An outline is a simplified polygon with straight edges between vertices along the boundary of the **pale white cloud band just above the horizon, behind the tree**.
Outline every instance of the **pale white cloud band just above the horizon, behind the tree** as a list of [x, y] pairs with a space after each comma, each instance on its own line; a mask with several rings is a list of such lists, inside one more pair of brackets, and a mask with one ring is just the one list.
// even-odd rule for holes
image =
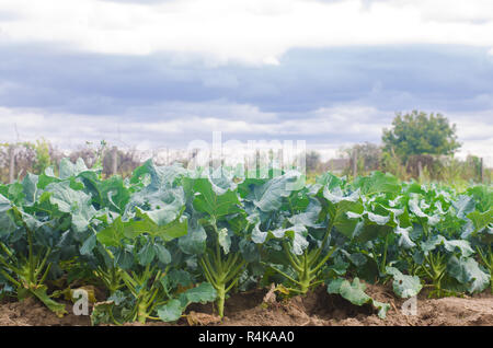
[[[221, 131], [223, 139], [239, 137], [241, 141], [306, 140], [309, 149], [317, 149], [328, 159], [339, 155], [342, 147], [355, 142], [379, 143], [382, 128], [389, 126], [393, 117], [391, 113], [358, 105], [320, 108], [299, 118], [286, 118], [263, 113], [255, 106], [221, 101], [175, 103], [167, 108], [177, 116], [139, 121], [137, 117], [48, 114], [0, 106], [0, 128], [4, 130], [3, 141], [16, 140], [16, 127], [21, 141], [44, 137], [60, 148], [78, 148], [85, 141], [104, 139], [140, 150], [186, 149], [190, 141], [202, 139], [210, 142], [213, 131]], [[459, 141], [462, 142], [459, 158], [479, 155], [486, 165], [493, 166], [493, 125], [488, 121], [493, 109], [446, 115], [457, 124]]]

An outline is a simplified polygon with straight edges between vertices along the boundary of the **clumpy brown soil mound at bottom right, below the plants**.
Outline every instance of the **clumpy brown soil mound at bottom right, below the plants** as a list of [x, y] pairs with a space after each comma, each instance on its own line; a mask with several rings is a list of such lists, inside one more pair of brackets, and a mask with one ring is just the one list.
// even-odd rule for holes
[[[233, 294], [226, 306], [226, 317], [219, 325], [231, 326], [428, 326], [493, 325], [493, 295], [488, 292], [467, 298], [427, 299], [423, 292], [415, 301], [415, 313], [406, 315], [406, 300], [395, 298], [391, 287], [367, 285], [366, 293], [391, 304], [387, 318], [378, 317], [370, 305], [357, 306], [340, 295], [329, 294], [320, 287], [305, 297], [270, 304], [262, 300], [266, 290], [248, 295]], [[409, 303], [409, 302], [408, 302]], [[211, 306], [199, 309], [213, 314]], [[408, 305], [404, 305], [404, 310]], [[410, 310], [408, 309], [408, 312]], [[415, 314], [415, 315], [412, 315]], [[181, 322], [180, 324], [185, 324]]]

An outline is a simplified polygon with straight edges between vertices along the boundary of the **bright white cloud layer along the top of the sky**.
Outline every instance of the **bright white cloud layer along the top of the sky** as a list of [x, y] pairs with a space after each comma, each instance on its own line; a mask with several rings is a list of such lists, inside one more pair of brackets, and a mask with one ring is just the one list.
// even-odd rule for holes
[[293, 47], [493, 45], [490, 0], [2, 0], [0, 43], [50, 42], [103, 54], [195, 53], [276, 65]]

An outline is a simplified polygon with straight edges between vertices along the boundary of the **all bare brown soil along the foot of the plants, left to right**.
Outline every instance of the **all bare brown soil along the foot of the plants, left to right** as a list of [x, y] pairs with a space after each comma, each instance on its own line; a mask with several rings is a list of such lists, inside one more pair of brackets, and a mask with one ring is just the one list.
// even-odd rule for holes
[[[267, 290], [233, 294], [227, 300], [222, 323], [214, 315], [213, 305], [193, 305], [188, 316], [177, 325], [231, 325], [231, 326], [427, 326], [427, 325], [493, 325], [493, 295], [483, 292], [474, 297], [427, 299], [417, 298], [417, 315], [404, 315], [401, 306], [405, 300], [393, 295], [385, 286], [367, 286], [366, 292], [380, 302], [391, 304], [386, 320], [380, 320], [369, 306], [356, 306], [339, 295], [328, 294], [323, 287], [307, 297], [264, 303]], [[71, 312], [71, 306], [67, 304]], [[0, 303], [0, 325], [90, 325], [88, 316], [73, 314], [58, 318], [34, 299], [22, 302]], [[135, 324], [129, 324], [135, 325]], [[149, 323], [148, 325], [168, 325]]]

